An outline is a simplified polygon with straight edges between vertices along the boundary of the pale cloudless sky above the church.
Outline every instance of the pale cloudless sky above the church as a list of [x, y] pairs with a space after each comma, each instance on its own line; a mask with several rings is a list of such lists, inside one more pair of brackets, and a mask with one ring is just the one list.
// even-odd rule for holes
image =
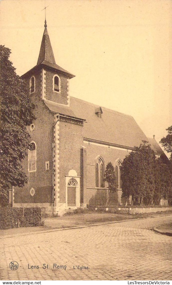
[[[172, 125], [172, 1], [1, 0], [1, 44], [20, 76], [47, 29], [70, 95], [132, 115], [156, 141]], [[168, 154], [168, 156], [170, 156]]]

